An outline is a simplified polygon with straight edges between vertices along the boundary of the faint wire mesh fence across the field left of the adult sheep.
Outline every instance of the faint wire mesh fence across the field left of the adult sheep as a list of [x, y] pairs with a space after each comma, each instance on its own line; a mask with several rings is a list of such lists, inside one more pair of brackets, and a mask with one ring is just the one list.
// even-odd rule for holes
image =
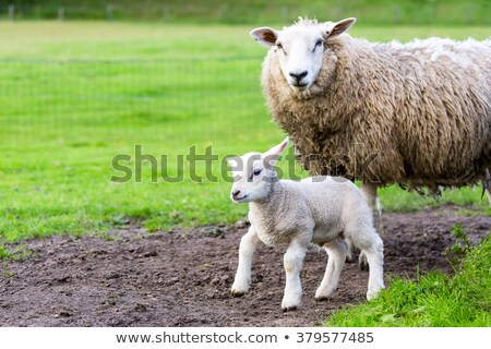
[[[218, 130], [232, 132], [233, 120], [253, 112], [251, 105], [265, 110], [260, 62], [247, 57], [0, 59], [0, 134], [19, 144], [37, 128], [52, 134], [97, 130], [95, 139], [104, 139], [134, 135], [133, 128], [171, 133], [167, 125], [183, 136], [211, 139]], [[195, 125], [196, 118], [207, 127]]]

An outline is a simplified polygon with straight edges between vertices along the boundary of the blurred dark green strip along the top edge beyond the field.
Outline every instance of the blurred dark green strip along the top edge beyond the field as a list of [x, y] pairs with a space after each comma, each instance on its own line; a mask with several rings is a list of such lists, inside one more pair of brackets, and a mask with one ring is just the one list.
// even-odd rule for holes
[[289, 23], [298, 15], [342, 19], [356, 16], [366, 24], [385, 25], [491, 25], [491, 2], [405, 1], [356, 8], [349, 1], [324, 5], [252, 3], [101, 4], [88, 5], [15, 5], [0, 3], [0, 20], [153, 20], [164, 22], [216, 23]]

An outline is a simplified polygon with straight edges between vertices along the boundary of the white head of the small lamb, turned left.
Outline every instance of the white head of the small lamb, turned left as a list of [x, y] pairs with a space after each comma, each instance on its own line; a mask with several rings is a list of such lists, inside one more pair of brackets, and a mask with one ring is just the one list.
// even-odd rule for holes
[[238, 204], [259, 202], [270, 195], [277, 181], [276, 161], [287, 145], [288, 137], [266, 153], [247, 153], [227, 159], [233, 172], [230, 191], [232, 202]]

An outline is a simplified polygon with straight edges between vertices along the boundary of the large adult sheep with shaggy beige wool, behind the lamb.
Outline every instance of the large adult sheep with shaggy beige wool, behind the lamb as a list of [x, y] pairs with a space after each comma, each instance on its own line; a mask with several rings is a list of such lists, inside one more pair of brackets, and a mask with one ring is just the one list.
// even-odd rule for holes
[[[491, 39], [369, 43], [356, 22], [300, 19], [251, 32], [270, 47], [262, 84], [273, 119], [311, 174], [412, 190], [491, 181]], [[491, 201], [491, 196], [490, 196]]]

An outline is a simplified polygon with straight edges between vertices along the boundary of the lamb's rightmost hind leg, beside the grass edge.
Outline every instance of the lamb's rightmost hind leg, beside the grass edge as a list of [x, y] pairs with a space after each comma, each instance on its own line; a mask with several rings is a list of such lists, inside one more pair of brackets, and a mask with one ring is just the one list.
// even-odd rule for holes
[[370, 265], [369, 285], [367, 291], [367, 299], [375, 298], [379, 291], [384, 288], [384, 245], [382, 239], [373, 229], [371, 234], [372, 241], [368, 246], [360, 246], [367, 254], [368, 263]]

